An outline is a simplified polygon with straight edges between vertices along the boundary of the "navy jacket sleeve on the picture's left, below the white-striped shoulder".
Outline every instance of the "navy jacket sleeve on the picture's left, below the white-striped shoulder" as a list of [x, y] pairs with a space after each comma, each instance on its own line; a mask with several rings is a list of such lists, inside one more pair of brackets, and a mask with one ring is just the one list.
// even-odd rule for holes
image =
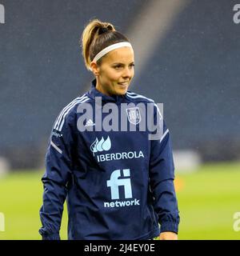
[[71, 120], [67, 116], [62, 130], [56, 130], [54, 127], [58, 128], [57, 118], [46, 151], [46, 171], [42, 176], [43, 204], [40, 209], [42, 227], [39, 230], [43, 240], [60, 239], [62, 210], [72, 166], [74, 135]]

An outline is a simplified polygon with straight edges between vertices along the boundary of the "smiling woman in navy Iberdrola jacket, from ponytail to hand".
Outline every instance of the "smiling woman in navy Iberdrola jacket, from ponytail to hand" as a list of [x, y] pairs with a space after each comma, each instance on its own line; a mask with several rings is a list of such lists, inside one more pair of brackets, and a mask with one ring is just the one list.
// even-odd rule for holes
[[[50, 135], [42, 177], [42, 239], [60, 238], [65, 199], [69, 239], [143, 240], [159, 234], [160, 239], [177, 239], [170, 134], [165, 123], [161, 139], [150, 140], [150, 131], [139, 128], [142, 110], [135, 105], [154, 103], [128, 90], [134, 77], [129, 40], [96, 19], [82, 33], [82, 54], [95, 79], [90, 91], [62, 110]], [[115, 111], [110, 122], [104, 121], [106, 111], [99, 112], [106, 106]], [[120, 111], [122, 106], [126, 111]], [[92, 115], [86, 116], [82, 109], [89, 107]], [[120, 112], [134, 131], [116, 129], [119, 123], [107, 130], [107, 123], [122, 122], [122, 116], [114, 119]], [[154, 119], [159, 114], [154, 104]]]

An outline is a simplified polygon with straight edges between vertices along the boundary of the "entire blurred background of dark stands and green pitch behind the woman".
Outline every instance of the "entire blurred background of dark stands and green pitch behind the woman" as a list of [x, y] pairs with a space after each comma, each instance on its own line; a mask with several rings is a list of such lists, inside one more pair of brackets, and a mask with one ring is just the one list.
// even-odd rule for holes
[[[240, 212], [236, 1], [0, 3], [0, 239], [40, 239], [46, 145], [59, 111], [94, 78], [78, 44], [92, 18], [112, 22], [130, 38], [136, 70], [130, 90], [164, 104], [174, 148], [179, 239], [240, 238], [234, 230], [234, 213]], [[61, 232], [66, 239], [66, 211]]]

